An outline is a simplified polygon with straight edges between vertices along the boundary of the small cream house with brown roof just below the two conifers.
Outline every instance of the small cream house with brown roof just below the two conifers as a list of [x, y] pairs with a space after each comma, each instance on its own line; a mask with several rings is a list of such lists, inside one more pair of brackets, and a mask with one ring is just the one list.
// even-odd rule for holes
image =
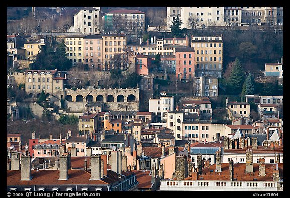
[[[229, 115], [229, 119], [233, 120], [236, 118], [250, 118], [250, 104], [247, 102], [228, 102], [226, 99], [226, 108]], [[247, 120], [246, 120], [247, 122]]]

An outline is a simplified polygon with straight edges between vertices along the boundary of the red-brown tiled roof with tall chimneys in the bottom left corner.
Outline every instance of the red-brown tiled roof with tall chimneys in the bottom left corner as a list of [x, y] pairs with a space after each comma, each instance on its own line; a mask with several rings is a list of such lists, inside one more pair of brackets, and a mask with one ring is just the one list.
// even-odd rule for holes
[[89, 184], [106, 185], [108, 183], [101, 180], [90, 180], [91, 174], [85, 170], [68, 170], [68, 180], [58, 180], [59, 170], [32, 170], [31, 181], [20, 181], [21, 171], [6, 171], [7, 185], [66, 185], [66, 184]]

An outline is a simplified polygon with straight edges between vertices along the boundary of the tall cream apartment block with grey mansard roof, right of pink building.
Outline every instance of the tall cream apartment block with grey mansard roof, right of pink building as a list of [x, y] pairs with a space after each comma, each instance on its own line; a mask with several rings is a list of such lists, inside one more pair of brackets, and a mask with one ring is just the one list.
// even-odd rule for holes
[[223, 37], [192, 36], [191, 47], [195, 50], [195, 76], [222, 77]]

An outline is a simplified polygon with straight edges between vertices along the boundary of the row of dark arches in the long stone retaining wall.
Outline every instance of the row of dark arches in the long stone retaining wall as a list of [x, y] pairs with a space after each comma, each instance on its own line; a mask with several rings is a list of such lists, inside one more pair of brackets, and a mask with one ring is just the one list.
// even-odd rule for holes
[[[86, 97], [82, 96], [81, 94], [77, 95], [75, 100], [73, 99], [73, 96], [66, 95], [65, 99], [70, 102], [136, 102], [136, 97], [133, 94], [128, 95], [127, 98], [124, 97], [124, 95], [120, 94], [114, 98], [113, 95], [108, 95], [107, 97], [104, 97], [103, 95], [97, 95], [97, 97], [94, 99], [94, 96], [87, 95]], [[126, 99], [126, 100], [125, 100]]]

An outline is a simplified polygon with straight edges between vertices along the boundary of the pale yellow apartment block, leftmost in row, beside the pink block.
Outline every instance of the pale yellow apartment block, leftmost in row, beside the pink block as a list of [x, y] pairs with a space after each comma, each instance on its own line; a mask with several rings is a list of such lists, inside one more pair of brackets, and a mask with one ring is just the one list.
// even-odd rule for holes
[[76, 65], [77, 63], [84, 63], [84, 36], [74, 35], [64, 38], [66, 45], [66, 57]]

